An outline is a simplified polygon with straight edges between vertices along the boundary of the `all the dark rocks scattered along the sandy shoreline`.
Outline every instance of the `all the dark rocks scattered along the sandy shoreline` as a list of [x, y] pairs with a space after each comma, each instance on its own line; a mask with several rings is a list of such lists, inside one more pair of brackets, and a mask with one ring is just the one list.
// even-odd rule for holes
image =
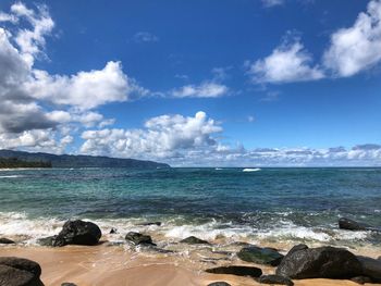
[[[160, 225], [161, 223], [147, 223], [144, 225]], [[349, 231], [380, 229], [366, 224], [359, 224], [348, 219], [339, 221], [340, 228]], [[111, 234], [118, 233], [112, 228]], [[39, 244], [51, 247], [66, 245], [94, 246], [101, 238], [100, 228], [91, 223], [81, 220], [67, 221], [61, 232], [56, 236], [39, 239]], [[156, 244], [149, 235], [130, 232], [125, 240], [134, 246], [152, 246]], [[0, 238], [0, 244], [13, 244], [14, 241]], [[192, 245], [210, 245], [208, 241], [190, 236], [180, 243]], [[381, 259], [355, 256], [346, 249], [335, 247], [308, 248], [306, 245], [294, 246], [286, 256], [281, 254], [274, 248], [261, 248], [257, 246], [244, 246], [237, 253], [242, 261], [275, 266], [275, 274], [263, 275], [262, 270], [248, 265], [228, 265], [207, 269], [207, 273], [232, 274], [249, 276], [261, 284], [294, 285], [292, 279], [305, 278], [332, 278], [352, 279], [353, 282], [381, 283]], [[0, 258], [0, 285], [40, 286], [41, 268], [38, 263], [22, 258]], [[63, 283], [73, 286], [71, 283]], [[214, 282], [209, 286], [229, 286], [225, 282]]]

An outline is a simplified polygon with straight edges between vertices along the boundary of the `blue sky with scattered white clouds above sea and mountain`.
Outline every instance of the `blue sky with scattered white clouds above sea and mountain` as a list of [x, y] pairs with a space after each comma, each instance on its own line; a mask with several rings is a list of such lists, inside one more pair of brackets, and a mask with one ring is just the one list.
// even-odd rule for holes
[[0, 2], [0, 149], [380, 166], [381, 0]]

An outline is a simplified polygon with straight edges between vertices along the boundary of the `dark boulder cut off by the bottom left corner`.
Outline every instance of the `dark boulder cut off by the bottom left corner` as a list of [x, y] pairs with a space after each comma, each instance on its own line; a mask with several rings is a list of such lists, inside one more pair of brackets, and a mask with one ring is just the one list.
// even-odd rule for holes
[[41, 268], [32, 260], [1, 257], [0, 286], [44, 286], [40, 281]]

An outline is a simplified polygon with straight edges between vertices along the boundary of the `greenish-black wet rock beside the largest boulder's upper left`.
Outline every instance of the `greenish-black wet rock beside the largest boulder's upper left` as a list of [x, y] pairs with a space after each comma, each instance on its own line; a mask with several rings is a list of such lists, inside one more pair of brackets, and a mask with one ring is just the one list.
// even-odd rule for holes
[[260, 248], [256, 246], [244, 247], [237, 257], [246, 262], [276, 266], [281, 263], [283, 256], [273, 248]]

